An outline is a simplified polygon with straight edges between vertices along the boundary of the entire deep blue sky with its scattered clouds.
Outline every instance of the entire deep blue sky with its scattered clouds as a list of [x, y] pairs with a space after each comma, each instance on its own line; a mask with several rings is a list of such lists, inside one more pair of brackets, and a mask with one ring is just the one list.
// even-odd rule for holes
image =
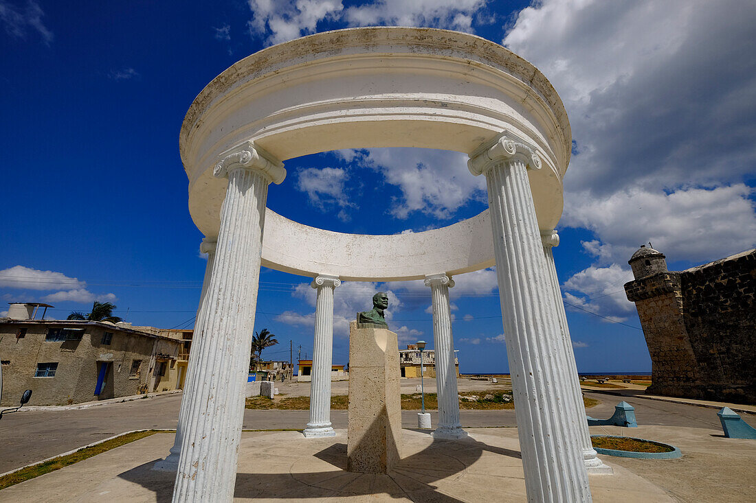
[[[622, 289], [632, 252], [650, 240], [681, 270], [756, 242], [754, 22], [750, 2], [705, 0], [0, 0], [0, 301], [48, 301], [48, 318], [113, 301], [135, 325], [191, 327], [205, 259], [178, 131], [194, 97], [235, 61], [300, 35], [435, 26], [507, 45], [559, 92], [575, 155], [554, 255], [578, 368], [648, 371]], [[341, 232], [441, 227], [485, 208], [464, 160], [406, 149], [291, 159], [268, 205]], [[438, 184], [438, 169], [456, 183]], [[494, 272], [455, 280], [462, 372], [506, 372]], [[295, 359], [300, 345], [311, 357], [308, 282], [262, 271], [256, 330], [281, 343], [263, 356], [288, 359], [291, 340]], [[336, 363], [347, 360], [345, 320], [379, 289], [403, 344], [432, 341], [425, 286], [344, 283]]]

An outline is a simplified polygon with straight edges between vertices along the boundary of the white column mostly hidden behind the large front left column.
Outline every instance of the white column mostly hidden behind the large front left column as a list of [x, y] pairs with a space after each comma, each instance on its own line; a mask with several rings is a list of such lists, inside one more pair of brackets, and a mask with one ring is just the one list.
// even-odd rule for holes
[[[197, 342], [197, 335], [199, 335], [202, 327], [200, 326], [200, 320], [203, 319], [202, 311], [205, 307], [205, 297], [207, 287], [210, 284], [210, 278], [212, 277], [212, 265], [215, 262], [215, 239], [205, 238], [200, 243], [200, 252], [207, 254], [207, 264], [205, 266], [205, 277], [202, 281], [202, 291], [200, 292], [200, 304], [197, 307], [197, 317], [194, 322], [194, 334], [192, 335], [192, 344]], [[167, 458], [157, 461], [153, 465], [153, 470], [159, 471], [175, 471], [178, 468], [178, 457], [181, 454], [181, 442], [184, 439], [184, 429], [186, 428], [187, 415], [191, 404], [187, 397], [191, 396], [191, 374], [195, 372], [197, 368], [197, 360], [199, 354], [194, 351], [189, 352], [189, 363], [187, 365], [187, 375], [184, 376], [184, 393], [181, 395], [181, 409], [178, 410], [178, 423], [176, 424], [176, 434], [173, 439], [173, 446]]]

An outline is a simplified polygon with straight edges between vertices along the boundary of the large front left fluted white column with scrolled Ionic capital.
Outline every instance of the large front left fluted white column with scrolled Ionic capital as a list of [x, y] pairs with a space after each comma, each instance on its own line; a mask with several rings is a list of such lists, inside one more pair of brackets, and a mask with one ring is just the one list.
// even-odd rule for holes
[[206, 292], [207, 308], [192, 344], [197, 366], [184, 400], [186, 428], [181, 443], [173, 501], [231, 501], [244, 415], [268, 184], [286, 176], [252, 142], [228, 152], [215, 165], [228, 177], [221, 209], [215, 265]]

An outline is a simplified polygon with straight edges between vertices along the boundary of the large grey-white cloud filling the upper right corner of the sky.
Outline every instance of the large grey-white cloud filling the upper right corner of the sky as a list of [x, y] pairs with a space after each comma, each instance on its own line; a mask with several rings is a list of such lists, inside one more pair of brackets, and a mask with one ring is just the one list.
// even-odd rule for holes
[[756, 3], [737, 1], [544, 0], [521, 11], [503, 43], [565, 102], [579, 151], [568, 199], [752, 174], [754, 23]]

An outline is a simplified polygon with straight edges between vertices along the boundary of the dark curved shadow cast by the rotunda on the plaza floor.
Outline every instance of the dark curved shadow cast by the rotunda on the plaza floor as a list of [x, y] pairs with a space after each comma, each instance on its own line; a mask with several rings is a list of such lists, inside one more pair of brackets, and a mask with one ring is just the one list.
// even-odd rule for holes
[[[461, 477], [467, 468], [481, 458], [483, 452], [522, 459], [519, 451], [489, 446], [470, 437], [460, 440], [434, 439], [422, 451], [401, 458], [389, 474], [356, 474], [345, 471], [346, 448], [346, 444], [336, 443], [314, 453], [314, 457], [326, 461], [338, 468], [338, 471], [238, 473], [234, 497], [298, 499], [385, 494], [413, 501], [454, 503], [462, 500], [446, 495], [434, 484], [450, 477]], [[175, 473], [151, 470], [156, 461], [160, 460], [141, 464], [118, 477], [154, 492], [158, 503], [171, 501]], [[265, 465], [265, 459], [261, 459], [260, 465]]]

